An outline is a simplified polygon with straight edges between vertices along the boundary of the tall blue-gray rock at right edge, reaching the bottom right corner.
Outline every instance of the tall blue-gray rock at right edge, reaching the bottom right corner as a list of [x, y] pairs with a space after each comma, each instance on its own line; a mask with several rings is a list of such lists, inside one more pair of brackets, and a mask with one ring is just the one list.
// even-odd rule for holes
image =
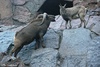
[[100, 36], [90, 42], [87, 53], [87, 67], [100, 67]]

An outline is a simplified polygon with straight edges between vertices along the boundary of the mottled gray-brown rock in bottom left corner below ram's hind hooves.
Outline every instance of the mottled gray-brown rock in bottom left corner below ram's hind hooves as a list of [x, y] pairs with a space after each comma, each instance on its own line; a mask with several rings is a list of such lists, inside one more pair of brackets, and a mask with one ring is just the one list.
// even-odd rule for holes
[[20, 58], [15, 58], [12, 56], [4, 56], [0, 62], [0, 67], [26, 67]]

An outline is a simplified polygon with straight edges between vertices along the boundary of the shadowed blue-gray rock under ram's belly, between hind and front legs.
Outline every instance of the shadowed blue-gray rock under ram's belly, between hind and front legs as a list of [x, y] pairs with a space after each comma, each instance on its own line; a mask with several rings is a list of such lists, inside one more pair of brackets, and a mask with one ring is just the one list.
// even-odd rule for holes
[[18, 53], [18, 57], [21, 58], [21, 60], [23, 60], [23, 62], [27, 65], [30, 64], [31, 62], [31, 55], [33, 53], [34, 50], [34, 45], [35, 45], [35, 41], [33, 41], [32, 43], [25, 45], [21, 51]]

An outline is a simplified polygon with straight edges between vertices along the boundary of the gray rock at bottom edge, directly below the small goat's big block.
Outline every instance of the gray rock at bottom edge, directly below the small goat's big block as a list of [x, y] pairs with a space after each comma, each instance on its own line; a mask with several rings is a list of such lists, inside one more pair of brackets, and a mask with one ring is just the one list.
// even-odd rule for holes
[[86, 67], [86, 56], [66, 56], [60, 67]]

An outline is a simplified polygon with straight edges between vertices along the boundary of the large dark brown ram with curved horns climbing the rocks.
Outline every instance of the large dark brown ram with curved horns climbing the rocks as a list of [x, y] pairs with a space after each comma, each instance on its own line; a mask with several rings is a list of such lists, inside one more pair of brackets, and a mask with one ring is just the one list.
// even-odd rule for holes
[[40, 44], [42, 47], [45, 47], [42, 43], [43, 36], [47, 32], [47, 28], [51, 21], [55, 21], [54, 15], [47, 15], [46, 13], [39, 14], [30, 24], [17, 32], [14, 38], [14, 47], [12, 48], [10, 55], [14, 53], [14, 56], [16, 57], [22, 47], [31, 43], [33, 40], [36, 40], [35, 48], [39, 48]]

